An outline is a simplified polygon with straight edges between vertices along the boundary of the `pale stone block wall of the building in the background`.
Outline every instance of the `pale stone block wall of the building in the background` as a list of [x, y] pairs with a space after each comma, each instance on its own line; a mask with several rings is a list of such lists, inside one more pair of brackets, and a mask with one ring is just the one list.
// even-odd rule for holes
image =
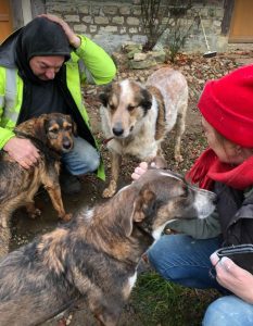
[[[147, 39], [141, 26], [140, 0], [46, 0], [45, 10], [62, 16], [76, 33], [91, 37], [110, 53], [118, 50], [125, 42], [143, 43]], [[224, 1], [218, 0], [193, 1], [193, 7], [185, 16], [185, 24], [192, 27], [184, 50], [206, 51], [201, 26], [192, 24], [198, 14], [201, 14], [211, 50], [226, 50], [227, 37], [222, 35]], [[165, 38], [162, 37], [161, 45], [164, 41]]]

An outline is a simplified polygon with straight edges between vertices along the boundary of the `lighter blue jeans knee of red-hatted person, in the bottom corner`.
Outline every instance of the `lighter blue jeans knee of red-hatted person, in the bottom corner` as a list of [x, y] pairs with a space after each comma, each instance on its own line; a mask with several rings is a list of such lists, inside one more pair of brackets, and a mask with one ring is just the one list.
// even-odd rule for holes
[[215, 300], [207, 308], [203, 326], [252, 326], [253, 304], [236, 296], [226, 296]]

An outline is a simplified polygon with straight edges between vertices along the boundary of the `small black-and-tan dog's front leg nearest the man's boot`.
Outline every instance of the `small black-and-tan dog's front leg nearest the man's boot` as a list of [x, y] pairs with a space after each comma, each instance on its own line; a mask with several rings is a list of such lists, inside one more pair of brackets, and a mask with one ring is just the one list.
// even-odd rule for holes
[[50, 181], [49, 184], [45, 185], [45, 189], [48, 191], [51, 198], [53, 208], [58, 212], [58, 216], [62, 218], [64, 222], [69, 221], [72, 218], [72, 214], [66, 214], [64, 210], [60, 184], [59, 183], [52, 184]]

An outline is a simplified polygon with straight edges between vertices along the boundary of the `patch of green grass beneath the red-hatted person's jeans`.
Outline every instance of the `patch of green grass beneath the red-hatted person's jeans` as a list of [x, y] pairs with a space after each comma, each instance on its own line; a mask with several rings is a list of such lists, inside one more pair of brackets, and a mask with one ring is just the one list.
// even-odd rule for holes
[[185, 288], [155, 272], [146, 272], [138, 277], [131, 304], [146, 326], [197, 326], [217, 296], [216, 291]]

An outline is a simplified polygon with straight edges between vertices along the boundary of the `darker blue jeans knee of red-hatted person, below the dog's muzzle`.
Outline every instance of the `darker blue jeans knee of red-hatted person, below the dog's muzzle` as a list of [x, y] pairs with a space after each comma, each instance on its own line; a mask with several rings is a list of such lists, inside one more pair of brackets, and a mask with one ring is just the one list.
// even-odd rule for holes
[[164, 235], [148, 251], [155, 271], [165, 279], [191, 288], [224, 290], [210, 271], [210, 255], [219, 248], [220, 238], [197, 240], [187, 235]]

